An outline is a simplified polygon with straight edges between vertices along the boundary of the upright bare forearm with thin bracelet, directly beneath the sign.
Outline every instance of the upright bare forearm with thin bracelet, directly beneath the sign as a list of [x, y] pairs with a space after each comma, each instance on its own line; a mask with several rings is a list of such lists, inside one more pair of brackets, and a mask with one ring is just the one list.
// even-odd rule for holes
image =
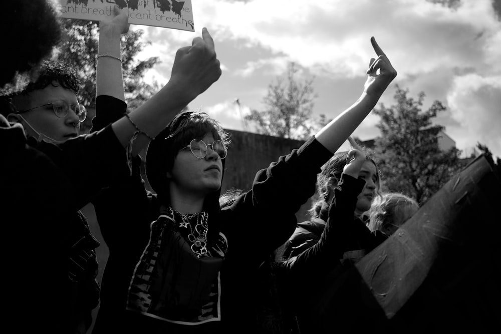
[[[120, 57], [121, 32], [112, 25], [100, 27], [98, 56]], [[112, 57], [99, 57], [96, 72], [96, 95], [109, 95], [125, 101], [122, 63]]]

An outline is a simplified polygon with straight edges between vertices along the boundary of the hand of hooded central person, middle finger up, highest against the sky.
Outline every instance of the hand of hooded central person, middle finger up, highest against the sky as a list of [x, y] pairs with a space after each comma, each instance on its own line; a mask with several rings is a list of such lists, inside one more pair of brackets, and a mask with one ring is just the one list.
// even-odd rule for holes
[[364, 88], [367, 94], [379, 98], [391, 81], [397, 76], [397, 71], [395, 71], [390, 60], [386, 57], [383, 50], [381, 50], [374, 37], [371, 37], [371, 44], [378, 57], [376, 59], [371, 58]]

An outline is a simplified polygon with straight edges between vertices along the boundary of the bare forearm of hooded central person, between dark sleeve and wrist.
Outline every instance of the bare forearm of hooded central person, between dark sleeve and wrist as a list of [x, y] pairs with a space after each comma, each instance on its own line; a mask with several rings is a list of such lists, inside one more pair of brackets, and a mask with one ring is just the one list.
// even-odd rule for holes
[[364, 92], [357, 102], [315, 135], [317, 141], [331, 153], [335, 153], [376, 106], [380, 96]]

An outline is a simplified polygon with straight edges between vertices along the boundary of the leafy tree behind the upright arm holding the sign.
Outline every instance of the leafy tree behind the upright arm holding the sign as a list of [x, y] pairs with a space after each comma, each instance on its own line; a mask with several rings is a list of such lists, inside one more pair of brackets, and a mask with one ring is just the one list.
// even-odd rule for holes
[[[77, 69], [82, 80], [79, 101], [92, 111], [96, 102], [96, 66], [99, 45], [99, 23], [87, 20], [62, 22], [63, 41], [58, 46], [56, 59]], [[134, 110], [158, 91], [158, 84], [143, 81], [144, 73], [159, 63], [158, 57], [138, 60], [140, 53], [150, 42], [141, 42], [143, 30], [129, 31], [122, 35], [122, 72], [124, 76], [125, 99], [129, 110]], [[92, 115], [82, 124], [85, 133], [92, 126]]]

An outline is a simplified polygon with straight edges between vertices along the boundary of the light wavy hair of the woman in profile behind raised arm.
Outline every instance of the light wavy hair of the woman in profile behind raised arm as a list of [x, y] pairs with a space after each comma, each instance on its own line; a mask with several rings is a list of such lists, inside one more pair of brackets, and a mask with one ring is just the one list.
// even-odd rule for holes
[[[322, 207], [329, 205], [329, 203], [326, 202], [326, 198], [329, 194], [329, 188], [331, 187], [329, 185], [329, 181], [334, 178], [336, 181], [335, 184], [338, 183], [339, 179], [341, 178], [341, 174], [343, 173], [344, 166], [346, 166], [346, 158], [348, 157], [348, 152], [349, 151], [342, 151], [335, 153], [333, 157], [322, 166], [322, 172], [317, 176], [317, 193], [312, 199], [311, 209], [308, 210], [311, 219], [318, 218]], [[376, 196], [379, 196], [379, 189], [381, 188], [380, 172], [374, 158], [370, 154], [367, 154], [367, 152], [365, 153], [367, 156], [366, 160], [371, 161], [374, 166], [376, 166]]]

